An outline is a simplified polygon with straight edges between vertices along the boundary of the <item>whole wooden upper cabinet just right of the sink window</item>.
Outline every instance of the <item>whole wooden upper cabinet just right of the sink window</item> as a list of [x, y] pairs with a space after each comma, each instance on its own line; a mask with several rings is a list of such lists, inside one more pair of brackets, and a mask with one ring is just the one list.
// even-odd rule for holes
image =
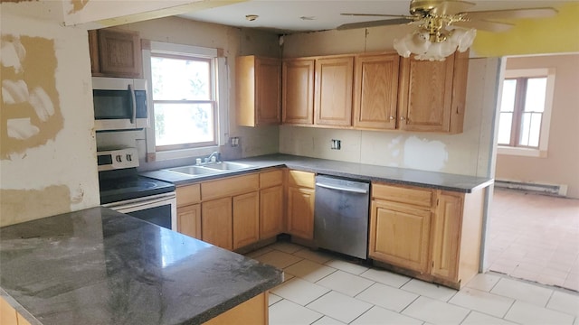
[[237, 124], [279, 125], [281, 122], [281, 60], [254, 55], [235, 61]]

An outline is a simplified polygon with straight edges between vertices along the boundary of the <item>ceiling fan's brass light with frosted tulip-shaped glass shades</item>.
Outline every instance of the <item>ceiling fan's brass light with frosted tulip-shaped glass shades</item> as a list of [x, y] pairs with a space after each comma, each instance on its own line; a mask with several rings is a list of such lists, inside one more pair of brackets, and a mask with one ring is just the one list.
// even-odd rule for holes
[[454, 51], [467, 51], [477, 31], [451, 26], [447, 16], [429, 15], [418, 30], [394, 40], [394, 49], [404, 58], [415, 54], [417, 60], [445, 60]]

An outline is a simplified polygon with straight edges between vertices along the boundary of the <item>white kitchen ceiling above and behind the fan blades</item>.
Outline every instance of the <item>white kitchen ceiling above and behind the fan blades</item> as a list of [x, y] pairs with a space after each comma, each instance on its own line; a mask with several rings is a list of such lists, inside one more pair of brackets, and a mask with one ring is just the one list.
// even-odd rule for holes
[[[216, 0], [215, 4], [219, 4]], [[469, 11], [515, 8], [559, 7], [571, 1], [550, 0], [470, 0]], [[278, 33], [313, 32], [335, 29], [343, 23], [382, 20], [382, 17], [351, 17], [340, 13], [409, 14], [410, 0], [249, 0], [198, 10], [181, 17], [207, 23], [252, 27]], [[259, 18], [248, 21], [247, 14]]]

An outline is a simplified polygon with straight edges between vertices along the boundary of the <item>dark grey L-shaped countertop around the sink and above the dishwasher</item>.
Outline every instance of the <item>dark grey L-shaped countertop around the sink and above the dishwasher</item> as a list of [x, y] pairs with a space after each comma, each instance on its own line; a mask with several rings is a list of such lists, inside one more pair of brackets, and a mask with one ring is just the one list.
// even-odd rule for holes
[[187, 176], [176, 172], [164, 172], [163, 170], [144, 172], [142, 174], [163, 181], [171, 181], [176, 185], [185, 185], [196, 181], [207, 181], [223, 176], [255, 172], [270, 167], [287, 166], [294, 170], [316, 172], [359, 181], [383, 181], [393, 184], [414, 185], [435, 190], [451, 190], [463, 193], [470, 193], [473, 190], [485, 188], [493, 183], [492, 179], [483, 177], [444, 172], [425, 172], [364, 163], [346, 163], [283, 153], [245, 158], [235, 160], [235, 162], [251, 164], [254, 168], [200, 177]]

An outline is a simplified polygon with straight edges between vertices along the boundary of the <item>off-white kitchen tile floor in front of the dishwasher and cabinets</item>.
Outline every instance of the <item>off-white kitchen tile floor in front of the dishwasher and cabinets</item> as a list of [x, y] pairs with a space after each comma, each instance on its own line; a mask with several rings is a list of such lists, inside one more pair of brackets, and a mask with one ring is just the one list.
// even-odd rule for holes
[[460, 291], [278, 242], [249, 254], [284, 270], [270, 324], [574, 324], [579, 294], [503, 274]]

